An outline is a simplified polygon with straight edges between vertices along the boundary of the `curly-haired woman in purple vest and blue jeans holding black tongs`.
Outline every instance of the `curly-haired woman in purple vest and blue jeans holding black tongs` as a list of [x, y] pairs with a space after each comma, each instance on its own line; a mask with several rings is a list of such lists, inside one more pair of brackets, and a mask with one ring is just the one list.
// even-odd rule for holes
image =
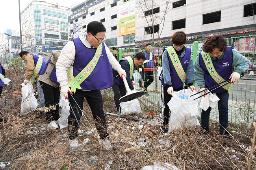
[[[208, 58], [211, 60], [212, 65], [218, 75], [224, 80], [231, 79], [230, 83], [239, 80], [240, 75], [249, 68], [248, 64], [250, 61], [243, 55], [239, 54], [236, 49], [232, 49], [231, 46], [227, 46], [226, 39], [222, 35], [212, 35], [208, 37], [203, 44], [203, 51], [210, 55]], [[200, 52], [195, 61], [195, 82], [197, 82], [198, 86], [200, 86], [200, 91], [202, 91], [202, 94], [206, 93], [204, 91], [206, 88], [217, 84], [217, 82], [211, 76], [214, 69], [212, 69], [212, 66], [210, 66], [209, 61], [206, 62], [206, 64], [209, 65], [206, 67], [205, 61], [202, 57], [202, 52]], [[236, 68], [234, 69], [234, 67]], [[218, 102], [220, 124], [219, 134], [229, 135], [227, 131], [228, 91], [221, 87], [212, 91], [212, 93], [216, 93], [217, 97], [220, 99]], [[202, 110], [201, 113], [201, 127], [204, 130], [204, 134], [209, 133], [210, 112], [211, 107], [209, 107], [206, 111]]]

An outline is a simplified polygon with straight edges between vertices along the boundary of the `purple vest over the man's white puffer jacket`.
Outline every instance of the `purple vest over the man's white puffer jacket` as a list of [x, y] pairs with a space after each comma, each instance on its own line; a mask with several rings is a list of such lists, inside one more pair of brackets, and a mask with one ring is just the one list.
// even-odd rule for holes
[[[93, 59], [96, 48], [87, 48], [79, 38], [75, 38], [76, 56], [73, 64], [73, 75], [76, 77], [82, 69]], [[93, 72], [85, 79], [80, 87], [82, 90], [102, 90], [113, 86], [112, 66], [108, 60], [104, 43], [98, 63]]]

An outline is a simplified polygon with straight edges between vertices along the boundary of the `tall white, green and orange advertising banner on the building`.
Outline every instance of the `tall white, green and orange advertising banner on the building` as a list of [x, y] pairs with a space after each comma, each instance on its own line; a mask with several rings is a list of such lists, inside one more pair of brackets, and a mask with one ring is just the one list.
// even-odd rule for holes
[[135, 33], [135, 0], [119, 5], [119, 36]]

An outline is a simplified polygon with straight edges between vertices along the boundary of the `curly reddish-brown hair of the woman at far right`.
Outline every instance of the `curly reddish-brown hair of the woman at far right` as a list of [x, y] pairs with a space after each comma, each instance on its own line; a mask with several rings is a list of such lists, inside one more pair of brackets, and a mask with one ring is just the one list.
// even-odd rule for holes
[[223, 35], [212, 35], [206, 38], [203, 44], [204, 52], [211, 53], [215, 48], [219, 48], [221, 52], [227, 49], [227, 41]]

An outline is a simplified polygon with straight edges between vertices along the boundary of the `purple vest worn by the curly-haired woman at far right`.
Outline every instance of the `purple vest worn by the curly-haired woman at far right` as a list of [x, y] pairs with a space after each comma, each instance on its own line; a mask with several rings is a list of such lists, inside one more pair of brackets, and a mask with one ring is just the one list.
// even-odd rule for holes
[[[224, 79], [224, 80], [228, 80], [228, 78], [230, 77], [230, 75], [232, 74], [232, 63], [233, 63], [233, 52], [232, 52], [232, 48], [231, 46], [227, 47], [227, 50], [223, 52], [224, 56], [223, 58], [221, 58], [221, 60], [212, 60], [212, 64], [215, 68], [215, 70], [217, 71], [217, 73]], [[208, 72], [206, 65], [204, 64], [204, 60], [202, 58], [202, 54], [199, 53], [199, 64], [200, 67], [204, 70], [204, 80], [205, 80], [205, 87], [211, 87], [215, 84], [217, 84], [217, 82], [215, 82], [215, 80], [213, 80], [213, 78], [211, 77], [210, 73]], [[216, 86], [214, 88], [217, 88], [219, 86]], [[213, 90], [214, 88], [211, 88], [209, 90]], [[212, 91], [212, 93], [224, 93], [227, 90], [225, 90], [224, 88], [218, 88], [217, 90]]]

